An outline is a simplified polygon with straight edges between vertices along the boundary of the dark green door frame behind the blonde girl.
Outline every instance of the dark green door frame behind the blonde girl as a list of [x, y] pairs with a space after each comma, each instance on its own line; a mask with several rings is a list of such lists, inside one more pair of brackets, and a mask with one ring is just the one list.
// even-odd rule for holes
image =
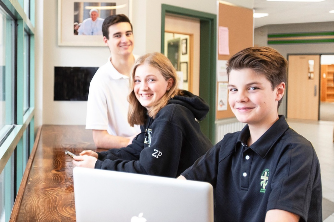
[[206, 118], [200, 122], [203, 133], [215, 143], [215, 99], [216, 99], [216, 25], [215, 14], [162, 4], [161, 53], [164, 53], [166, 13], [182, 15], [200, 20], [199, 96], [210, 106]]

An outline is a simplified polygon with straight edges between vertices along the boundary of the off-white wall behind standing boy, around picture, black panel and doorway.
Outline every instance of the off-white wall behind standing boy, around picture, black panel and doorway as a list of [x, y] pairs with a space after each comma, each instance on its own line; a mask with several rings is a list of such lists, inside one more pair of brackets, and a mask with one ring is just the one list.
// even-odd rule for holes
[[[253, 0], [229, 0], [252, 8]], [[57, 45], [57, 0], [36, 1], [35, 127], [42, 124], [85, 125], [85, 101], [53, 101], [54, 66], [100, 67], [107, 62], [107, 47]], [[160, 52], [161, 4], [216, 14], [216, 0], [133, 0], [134, 53]], [[102, 39], [101, 39], [102, 41]]]

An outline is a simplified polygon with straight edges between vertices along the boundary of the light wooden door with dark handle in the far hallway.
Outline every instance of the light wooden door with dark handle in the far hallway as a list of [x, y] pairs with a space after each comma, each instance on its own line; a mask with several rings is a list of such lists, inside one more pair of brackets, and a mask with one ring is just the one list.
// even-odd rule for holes
[[320, 55], [289, 55], [288, 60], [287, 117], [318, 120]]

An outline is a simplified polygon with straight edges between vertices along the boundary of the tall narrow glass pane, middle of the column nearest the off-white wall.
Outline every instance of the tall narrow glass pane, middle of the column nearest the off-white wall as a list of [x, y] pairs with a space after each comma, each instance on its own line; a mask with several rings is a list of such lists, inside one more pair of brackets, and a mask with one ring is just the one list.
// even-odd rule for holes
[[24, 32], [24, 49], [23, 49], [23, 113], [29, 109], [30, 87], [29, 87], [29, 54], [30, 54], [30, 36]]

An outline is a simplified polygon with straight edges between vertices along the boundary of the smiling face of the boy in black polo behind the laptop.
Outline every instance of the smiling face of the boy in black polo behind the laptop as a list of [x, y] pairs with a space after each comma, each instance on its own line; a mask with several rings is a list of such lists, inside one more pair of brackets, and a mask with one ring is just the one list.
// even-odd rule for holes
[[252, 69], [231, 70], [228, 103], [238, 119], [249, 126], [272, 125], [278, 119], [277, 105], [285, 83], [272, 89], [270, 81]]

